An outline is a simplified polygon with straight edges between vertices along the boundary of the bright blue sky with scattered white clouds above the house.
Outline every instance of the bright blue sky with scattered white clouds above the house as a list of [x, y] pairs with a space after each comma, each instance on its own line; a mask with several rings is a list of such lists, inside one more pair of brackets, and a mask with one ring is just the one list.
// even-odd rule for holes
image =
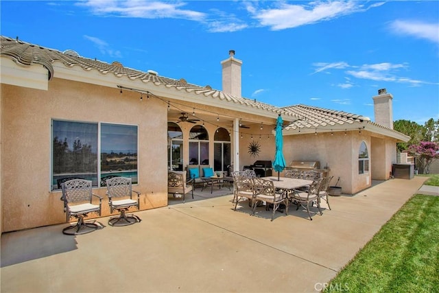
[[439, 119], [439, 1], [1, 1], [1, 34], [222, 88], [228, 51], [242, 95], [374, 119]]

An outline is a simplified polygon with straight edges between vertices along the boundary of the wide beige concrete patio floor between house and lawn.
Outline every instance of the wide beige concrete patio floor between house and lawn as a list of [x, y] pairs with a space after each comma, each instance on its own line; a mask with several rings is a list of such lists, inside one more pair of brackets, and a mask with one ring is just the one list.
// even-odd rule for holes
[[138, 212], [131, 226], [99, 218], [103, 229], [76, 237], [62, 234], [67, 224], [4, 233], [1, 292], [315, 292], [426, 179], [331, 196], [332, 210], [312, 221], [294, 205], [273, 222], [246, 202], [233, 211], [223, 188]]

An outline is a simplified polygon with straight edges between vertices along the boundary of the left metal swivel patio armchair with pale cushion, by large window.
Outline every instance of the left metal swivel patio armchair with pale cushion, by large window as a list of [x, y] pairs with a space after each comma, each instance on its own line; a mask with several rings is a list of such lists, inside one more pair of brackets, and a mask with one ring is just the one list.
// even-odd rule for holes
[[[64, 201], [64, 212], [67, 213], [67, 222], [71, 218], [78, 220], [75, 226], [68, 226], [62, 229], [66, 235], [80, 235], [95, 231], [101, 226], [85, 222], [84, 218], [88, 213], [101, 215], [102, 198], [93, 194], [91, 180], [72, 179], [61, 183], [62, 200]], [[99, 204], [93, 204], [93, 196], [99, 199]]]

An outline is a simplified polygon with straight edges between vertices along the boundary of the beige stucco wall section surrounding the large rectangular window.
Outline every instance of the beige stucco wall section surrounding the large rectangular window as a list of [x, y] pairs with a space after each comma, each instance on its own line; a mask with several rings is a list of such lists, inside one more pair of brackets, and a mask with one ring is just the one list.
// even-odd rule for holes
[[[50, 191], [51, 119], [137, 125], [141, 209], [167, 205], [167, 150], [158, 147], [167, 108], [158, 99], [55, 78], [48, 91], [1, 84], [1, 111], [1, 232], [65, 222], [61, 192]], [[106, 189], [93, 192], [109, 215]]]

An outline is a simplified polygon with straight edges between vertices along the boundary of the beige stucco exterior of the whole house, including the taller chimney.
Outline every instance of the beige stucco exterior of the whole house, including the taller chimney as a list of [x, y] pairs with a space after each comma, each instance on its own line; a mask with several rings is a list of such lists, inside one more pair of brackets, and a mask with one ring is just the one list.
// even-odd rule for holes
[[[20, 45], [14, 40], [10, 42]], [[38, 62], [23, 65], [14, 59], [14, 51], [9, 54], [1, 56], [0, 62], [1, 233], [66, 222], [61, 191], [51, 191], [52, 119], [138, 127], [139, 183], [133, 189], [141, 192], [141, 210], [167, 205], [167, 122], [176, 121], [182, 112], [192, 113], [196, 109], [197, 124], [204, 125], [209, 133], [210, 162], [214, 159], [215, 131], [222, 127], [230, 132], [231, 163], [235, 170], [257, 160], [274, 159], [278, 114], [290, 123], [297, 119], [313, 121], [291, 109], [241, 97], [242, 62], [233, 56], [222, 62], [226, 89], [221, 92], [208, 86], [187, 86], [181, 80], [154, 81], [156, 73], [145, 73], [144, 79], [135, 77], [139, 73], [129, 73], [133, 74], [130, 77], [128, 73], [119, 73], [124, 70], [119, 65], [99, 63], [94, 67], [90, 60], [81, 58], [77, 59], [85, 65], [78, 62], [70, 66], [58, 56], [50, 62], [53, 70], [48, 70]], [[139, 99], [140, 93], [144, 93], [143, 100]], [[150, 98], [145, 98], [145, 93]], [[345, 194], [370, 187], [372, 179], [388, 179], [392, 163], [396, 163], [396, 142], [407, 141], [408, 137], [365, 117], [351, 116], [343, 116], [346, 121], [350, 119], [345, 124], [340, 124], [341, 120], [337, 120], [337, 125], [327, 124], [325, 120], [311, 128], [284, 129], [287, 165], [291, 161], [320, 161], [321, 167], [329, 167], [329, 175], [335, 178], [333, 184], [340, 177], [339, 186]], [[239, 128], [239, 121], [250, 128]], [[178, 125], [183, 134], [185, 166], [189, 163], [189, 132], [196, 124]], [[248, 153], [252, 141], [260, 145], [255, 157]], [[368, 148], [370, 169], [366, 174], [358, 174], [359, 147], [363, 141]], [[103, 198], [102, 216], [110, 215], [106, 187], [93, 187], [93, 192]]]

